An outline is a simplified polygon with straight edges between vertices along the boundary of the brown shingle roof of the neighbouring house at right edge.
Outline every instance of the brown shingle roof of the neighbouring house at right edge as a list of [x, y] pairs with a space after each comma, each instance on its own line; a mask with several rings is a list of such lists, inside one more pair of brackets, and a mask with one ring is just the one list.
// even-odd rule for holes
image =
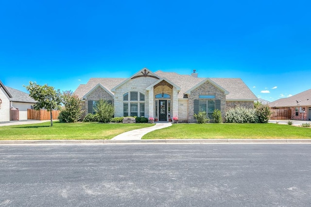
[[311, 106], [311, 89], [269, 103], [270, 107]]

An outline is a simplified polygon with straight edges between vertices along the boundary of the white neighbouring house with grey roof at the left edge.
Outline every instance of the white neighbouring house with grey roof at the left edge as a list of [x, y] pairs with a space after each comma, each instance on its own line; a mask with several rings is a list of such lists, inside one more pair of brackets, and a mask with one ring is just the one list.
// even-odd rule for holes
[[0, 122], [11, 121], [12, 113], [18, 110], [18, 120], [27, 120], [27, 109], [33, 108], [35, 100], [27, 93], [4, 86], [0, 81]]

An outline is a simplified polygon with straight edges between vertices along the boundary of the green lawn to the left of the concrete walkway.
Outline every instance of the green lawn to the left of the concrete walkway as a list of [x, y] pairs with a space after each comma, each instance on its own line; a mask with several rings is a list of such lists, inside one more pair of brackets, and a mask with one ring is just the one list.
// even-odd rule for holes
[[154, 124], [59, 123], [0, 127], [0, 140], [108, 140], [125, 131]]

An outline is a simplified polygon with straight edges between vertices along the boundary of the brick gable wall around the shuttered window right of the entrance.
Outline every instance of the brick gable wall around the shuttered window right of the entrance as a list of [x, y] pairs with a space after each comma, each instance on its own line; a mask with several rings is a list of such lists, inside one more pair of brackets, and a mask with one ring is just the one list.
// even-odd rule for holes
[[211, 84], [208, 80], [191, 91], [191, 94], [188, 95], [188, 119], [189, 122], [196, 122], [194, 119], [194, 100], [199, 99], [199, 95], [215, 95], [216, 100], [220, 100], [220, 111], [222, 112], [223, 120], [225, 119], [225, 92], [221, 91], [219, 88]]

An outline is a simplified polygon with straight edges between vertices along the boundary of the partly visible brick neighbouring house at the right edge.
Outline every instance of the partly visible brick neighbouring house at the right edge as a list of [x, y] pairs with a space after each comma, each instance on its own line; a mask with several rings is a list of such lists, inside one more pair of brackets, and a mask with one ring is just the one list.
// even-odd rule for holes
[[269, 103], [271, 109], [289, 111], [288, 118], [293, 120], [311, 120], [311, 89], [287, 98]]

